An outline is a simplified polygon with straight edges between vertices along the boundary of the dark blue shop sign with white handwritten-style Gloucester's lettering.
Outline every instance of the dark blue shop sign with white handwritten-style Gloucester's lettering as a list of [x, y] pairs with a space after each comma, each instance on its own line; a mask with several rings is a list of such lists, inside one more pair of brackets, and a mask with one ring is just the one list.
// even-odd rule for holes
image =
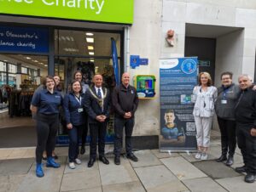
[[49, 31], [43, 28], [0, 26], [0, 51], [49, 52]]

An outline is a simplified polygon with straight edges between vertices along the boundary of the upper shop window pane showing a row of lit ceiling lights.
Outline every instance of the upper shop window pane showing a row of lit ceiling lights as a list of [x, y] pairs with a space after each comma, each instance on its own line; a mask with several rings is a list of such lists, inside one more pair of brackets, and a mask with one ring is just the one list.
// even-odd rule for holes
[[110, 57], [111, 37], [120, 55], [119, 33], [55, 30], [55, 54]]

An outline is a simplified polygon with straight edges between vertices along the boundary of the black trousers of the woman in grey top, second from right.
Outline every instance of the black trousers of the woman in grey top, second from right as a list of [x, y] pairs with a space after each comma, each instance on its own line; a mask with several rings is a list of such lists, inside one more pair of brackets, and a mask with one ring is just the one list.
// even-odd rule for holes
[[236, 150], [236, 121], [218, 117], [218, 127], [221, 134], [222, 154], [234, 155]]

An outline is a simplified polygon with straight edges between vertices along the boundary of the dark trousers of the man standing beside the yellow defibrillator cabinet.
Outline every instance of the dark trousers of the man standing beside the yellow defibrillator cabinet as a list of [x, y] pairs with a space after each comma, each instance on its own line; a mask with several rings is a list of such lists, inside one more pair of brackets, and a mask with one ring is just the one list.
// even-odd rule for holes
[[119, 156], [122, 150], [123, 130], [125, 127], [125, 150], [131, 154], [131, 134], [134, 126], [134, 118], [124, 119], [114, 117], [114, 149], [113, 154]]

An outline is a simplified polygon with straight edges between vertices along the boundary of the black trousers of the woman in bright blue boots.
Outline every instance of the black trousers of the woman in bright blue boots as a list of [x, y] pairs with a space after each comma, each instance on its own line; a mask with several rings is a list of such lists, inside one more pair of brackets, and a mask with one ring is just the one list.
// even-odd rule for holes
[[44, 149], [47, 156], [52, 156], [55, 149], [56, 134], [59, 127], [59, 115], [37, 114], [38, 144], [36, 148], [36, 161], [42, 162]]

